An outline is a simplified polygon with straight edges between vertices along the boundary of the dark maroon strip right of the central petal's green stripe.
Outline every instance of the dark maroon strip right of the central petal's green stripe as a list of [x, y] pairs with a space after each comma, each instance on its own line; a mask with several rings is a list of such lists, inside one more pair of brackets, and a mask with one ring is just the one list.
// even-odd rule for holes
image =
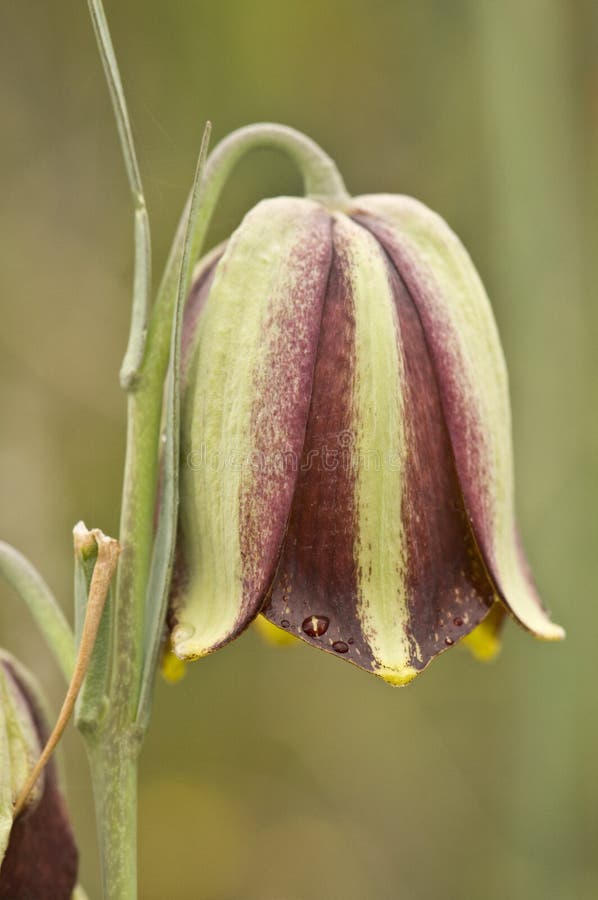
[[415, 668], [475, 628], [493, 601], [463, 506], [438, 385], [424, 334], [400, 276], [393, 290], [405, 372], [407, 463], [402, 512], [409, 632]]

